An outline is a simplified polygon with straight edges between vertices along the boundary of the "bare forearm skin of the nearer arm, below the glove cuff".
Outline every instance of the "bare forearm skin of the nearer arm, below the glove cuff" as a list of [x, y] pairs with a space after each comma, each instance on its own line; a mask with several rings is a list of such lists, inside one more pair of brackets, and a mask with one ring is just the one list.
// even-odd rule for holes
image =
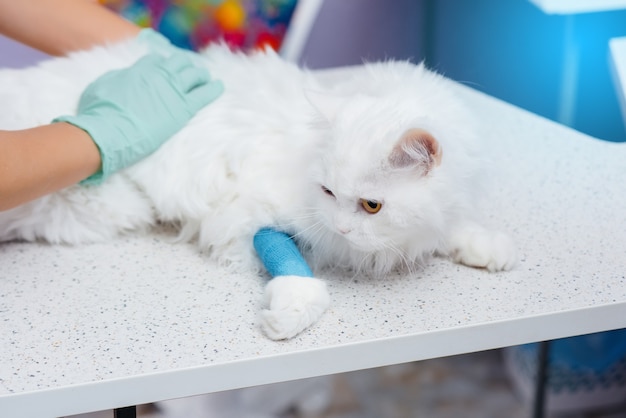
[[70, 124], [0, 130], [0, 210], [75, 184], [99, 169], [98, 147]]

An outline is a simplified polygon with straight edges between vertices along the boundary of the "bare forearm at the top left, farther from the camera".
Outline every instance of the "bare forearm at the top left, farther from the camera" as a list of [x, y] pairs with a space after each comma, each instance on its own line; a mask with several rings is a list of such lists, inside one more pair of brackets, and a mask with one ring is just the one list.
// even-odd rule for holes
[[50, 55], [132, 38], [140, 28], [90, 0], [0, 0], [0, 33]]

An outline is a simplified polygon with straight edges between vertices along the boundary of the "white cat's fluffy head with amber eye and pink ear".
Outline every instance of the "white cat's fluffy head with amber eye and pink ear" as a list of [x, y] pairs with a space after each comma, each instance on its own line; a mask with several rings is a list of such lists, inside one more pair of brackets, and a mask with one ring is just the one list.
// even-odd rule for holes
[[455, 205], [453, 183], [462, 164], [459, 150], [446, 149], [441, 140], [454, 135], [446, 129], [454, 123], [446, 120], [449, 110], [431, 107], [446, 106], [448, 99], [420, 100], [400, 90], [308, 96], [329, 135], [312, 173], [318, 222], [364, 253], [406, 255], [414, 244], [419, 251], [436, 249]]

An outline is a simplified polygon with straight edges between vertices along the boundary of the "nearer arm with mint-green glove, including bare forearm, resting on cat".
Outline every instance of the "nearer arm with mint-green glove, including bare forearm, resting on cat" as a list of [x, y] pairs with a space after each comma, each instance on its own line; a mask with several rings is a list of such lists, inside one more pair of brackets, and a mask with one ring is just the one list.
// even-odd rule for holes
[[106, 73], [83, 92], [76, 115], [0, 131], [0, 209], [84, 179], [100, 183], [155, 151], [222, 89], [184, 54], [151, 54]]

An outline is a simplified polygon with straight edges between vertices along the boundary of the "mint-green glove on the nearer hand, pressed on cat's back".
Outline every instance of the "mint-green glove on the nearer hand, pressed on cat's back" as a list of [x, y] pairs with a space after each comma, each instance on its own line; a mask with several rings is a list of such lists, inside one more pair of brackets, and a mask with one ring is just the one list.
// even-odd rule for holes
[[53, 122], [71, 123], [94, 140], [102, 168], [81, 183], [99, 184], [154, 152], [223, 89], [186, 54], [150, 54], [95, 80], [83, 92], [76, 116]]

